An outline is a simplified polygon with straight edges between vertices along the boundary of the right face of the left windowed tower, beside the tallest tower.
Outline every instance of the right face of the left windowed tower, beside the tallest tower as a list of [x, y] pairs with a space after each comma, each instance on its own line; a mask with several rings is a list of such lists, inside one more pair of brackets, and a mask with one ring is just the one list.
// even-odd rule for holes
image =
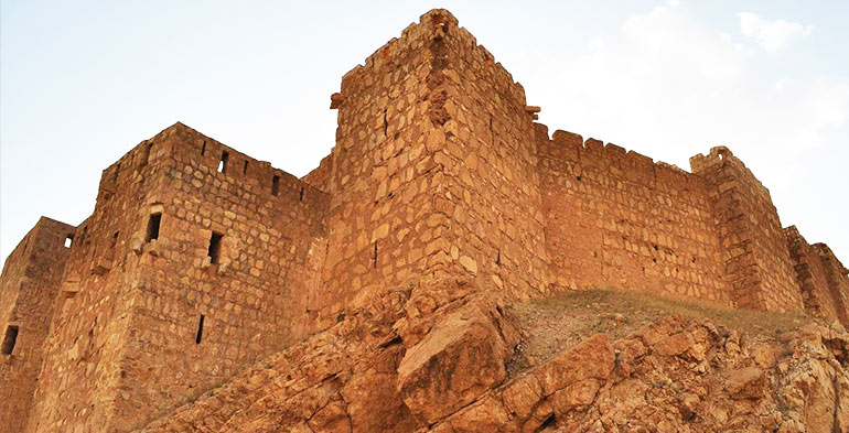
[[326, 250], [326, 195], [189, 128], [169, 133], [163, 185], [148, 202], [161, 206], [162, 226], [158, 251], [146, 245], [140, 257], [149, 269], [121, 366], [120, 426], [143, 425], [315, 331], [307, 299]]

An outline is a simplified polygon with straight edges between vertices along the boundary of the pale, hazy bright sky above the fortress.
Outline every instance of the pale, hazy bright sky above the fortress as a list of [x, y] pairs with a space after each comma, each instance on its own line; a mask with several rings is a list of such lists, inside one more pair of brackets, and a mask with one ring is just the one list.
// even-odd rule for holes
[[0, 2], [0, 260], [77, 225], [100, 171], [175, 121], [295, 175], [342, 75], [451, 10], [540, 121], [689, 170], [728, 145], [784, 226], [849, 264], [847, 1]]

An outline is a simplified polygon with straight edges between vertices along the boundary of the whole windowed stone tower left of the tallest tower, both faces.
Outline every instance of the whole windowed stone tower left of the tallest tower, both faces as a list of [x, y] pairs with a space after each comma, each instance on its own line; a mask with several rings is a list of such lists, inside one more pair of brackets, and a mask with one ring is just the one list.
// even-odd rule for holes
[[326, 205], [182, 125], [107, 169], [72, 248], [30, 431], [129, 431], [313, 332]]

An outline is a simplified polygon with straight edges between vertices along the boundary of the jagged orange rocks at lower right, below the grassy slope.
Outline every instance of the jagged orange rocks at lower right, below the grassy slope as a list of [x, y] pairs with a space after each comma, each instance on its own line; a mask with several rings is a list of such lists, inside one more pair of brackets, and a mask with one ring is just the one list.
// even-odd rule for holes
[[843, 432], [847, 349], [849, 335], [837, 324], [748, 342], [671, 316], [612, 344], [595, 335], [433, 430]]

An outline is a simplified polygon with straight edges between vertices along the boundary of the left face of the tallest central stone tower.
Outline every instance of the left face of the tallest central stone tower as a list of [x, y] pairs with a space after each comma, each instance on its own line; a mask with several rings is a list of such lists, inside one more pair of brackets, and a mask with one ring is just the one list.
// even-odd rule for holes
[[434, 216], [433, 161], [444, 96], [433, 34], [421, 17], [342, 79], [336, 144], [305, 176], [331, 195], [329, 251], [313, 299], [323, 327], [365, 296], [442, 272], [444, 217]]

